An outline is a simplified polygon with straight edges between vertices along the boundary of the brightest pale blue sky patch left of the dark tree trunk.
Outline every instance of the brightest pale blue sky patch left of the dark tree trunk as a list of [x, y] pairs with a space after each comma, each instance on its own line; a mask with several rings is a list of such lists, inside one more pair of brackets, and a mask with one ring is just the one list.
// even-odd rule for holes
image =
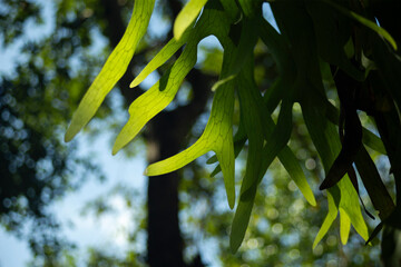
[[[84, 187], [67, 194], [65, 198], [56, 201], [51, 209], [63, 225], [63, 236], [78, 244], [82, 250], [88, 246], [108, 247], [115, 253], [127, 249], [124, 238], [135, 227], [133, 216], [135, 210], [125, 206], [121, 197], [111, 197], [109, 202], [117, 214], [107, 215], [97, 219], [91, 216], [82, 216], [85, 205], [98, 196], [108, 192], [117, 185], [128, 185], [138, 191], [146, 191], [146, 179], [141, 175], [145, 169], [145, 155], [139, 154], [133, 159], [124, 155], [111, 156], [109, 151], [109, 137], [100, 136], [95, 140], [86, 140], [87, 137], [78, 137], [81, 155], [94, 155], [94, 161], [102, 167], [107, 177], [105, 182], [99, 184], [96, 177], [90, 177]], [[145, 196], [136, 199], [143, 204]], [[69, 227], [74, 225], [74, 227]], [[23, 266], [30, 258], [30, 251], [25, 241], [0, 230], [0, 266]], [[113, 249], [114, 248], [114, 249]]]

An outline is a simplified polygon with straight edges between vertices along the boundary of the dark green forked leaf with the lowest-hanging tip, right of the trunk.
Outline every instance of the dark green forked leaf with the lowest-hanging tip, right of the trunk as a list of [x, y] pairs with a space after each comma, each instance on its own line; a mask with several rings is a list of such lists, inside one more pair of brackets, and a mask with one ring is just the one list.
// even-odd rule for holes
[[[264, 109], [261, 108], [264, 107], [264, 103], [253, 80], [252, 65], [246, 65], [239, 73], [238, 95], [241, 99], [241, 117], [248, 136], [248, 157], [239, 202], [232, 225], [232, 251], [236, 251], [243, 241], [257, 186], [276, 156], [278, 156], [306, 199], [312, 205], [315, 205], [313, 192], [296, 158], [292, 157], [291, 150], [285, 146], [292, 129], [292, 103], [284, 102], [282, 105], [278, 123], [275, 127], [273, 120], [267, 119], [267, 116], [264, 116]], [[255, 131], [255, 129], [257, 130]], [[266, 136], [266, 145], [263, 147], [264, 135]]]

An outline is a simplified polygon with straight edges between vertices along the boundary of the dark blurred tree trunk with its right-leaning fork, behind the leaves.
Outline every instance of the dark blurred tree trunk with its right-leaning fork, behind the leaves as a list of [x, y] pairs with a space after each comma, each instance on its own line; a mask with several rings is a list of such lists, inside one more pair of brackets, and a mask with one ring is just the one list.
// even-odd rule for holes
[[[207, 79], [194, 70], [188, 76], [193, 100], [169, 112], [157, 116], [148, 127], [148, 162], [170, 157], [186, 145], [186, 137], [208, 97]], [[148, 180], [148, 263], [151, 267], [184, 266], [183, 239], [178, 221], [178, 186], [180, 172], [150, 177]]]

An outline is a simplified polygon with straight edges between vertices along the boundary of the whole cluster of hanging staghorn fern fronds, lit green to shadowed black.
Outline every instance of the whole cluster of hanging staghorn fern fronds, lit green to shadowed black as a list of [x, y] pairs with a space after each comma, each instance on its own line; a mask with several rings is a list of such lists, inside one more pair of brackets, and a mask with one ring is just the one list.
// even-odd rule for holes
[[[131, 103], [130, 118], [117, 137], [113, 152], [126, 146], [147, 121], [173, 101], [196, 63], [197, 44], [213, 34], [223, 46], [224, 55], [219, 80], [212, 87], [215, 95], [206, 128], [193, 146], [150, 165], [145, 172], [148, 176], [166, 174], [212, 150], [219, 162], [214, 175], [222, 169], [228, 205], [233, 208], [234, 158], [247, 141], [246, 171], [231, 233], [231, 248], [236, 251], [245, 236], [257, 189], [275, 158], [280, 159], [306, 200], [316, 205], [305, 175], [287, 146], [292, 140], [293, 107], [297, 103], [324, 168], [321, 189], [327, 189], [329, 214], [313, 247], [326, 235], [338, 214], [343, 244], [348, 243], [351, 225], [364, 240], [369, 238], [354, 164], [381, 219], [399, 228], [397, 208], [364, 148], [366, 145], [387, 154], [395, 182], [400, 179], [401, 95], [398, 89], [401, 60], [394, 39], [371, 21], [374, 20], [374, 10], [359, 1], [342, 2], [342, 6], [329, 0], [274, 1], [271, 7], [280, 32], [262, 17], [262, 3], [255, 0], [189, 1], [175, 22], [175, 38], [155, 56], [131, 86], [137, 86], [185, 44], [179, 58], [159, 81]], [[130, 34], [133, 26], [138, 27], [138, 32], [133, 40], [124, 37], [123, 44], [111, 53], [75, 113], [66, 140], [70, 140], [95, 115], [126, 69], [134, 53], [133, 47], [145, 33], [154, 2], [138, 0], [135, 4], [126, 34]], [[274, 86], [262, 91], [254, 78], [254, 48], [260, 39], [272, 53], [280, 73]], [[131, 44], [130, 52], [126, 53], [128, 58], [116, 60], [115, 55], [120, 57], [121, 46], [128, 43]], [[336, 89], [340, 107], [329, 101], [327, 85]], [[241, 119], [233, 138], [235, 92]], [[278, 119], [274, 122], [272, 115], [277, 107]], [[362, 127], [358, 113], [361, 111], [374, 119], [380, 138]], [[398, 199], [400, 195], [398, 190]]]

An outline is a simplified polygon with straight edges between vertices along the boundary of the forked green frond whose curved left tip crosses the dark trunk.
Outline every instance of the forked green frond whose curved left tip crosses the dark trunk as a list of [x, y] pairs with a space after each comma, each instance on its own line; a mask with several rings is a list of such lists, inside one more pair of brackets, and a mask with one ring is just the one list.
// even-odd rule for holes
[[[224, 16], [224, 14], [223, 14]], [[214, 17], [214, 18], [213, 18]], [[212, 19], [211, 19], [212, 18]], [[208, 23], [213, 24], [214, 20], [219, 21], [219, 28], [213, 28], [218, 30], [216, 36], [221, 38], [221, 42], [225, 48], [222, 77], [231, 71], [234, 65], [233, 60], [233, 44], [226, 34], [222, 34], [222, 31], [228, 29], [229, 19], [222, 18], [222, 13], [212, 11], [208, 14]], [[225, 29], [222, 29], [225, 28]], [[224, 182], [227, 192], [228, 205], [231, 208], [235, 204], [235, 188], [234, 188], [234, 145], [233, 145], [233, 109], [234, 109], [234, 83], [233, 81], [225, 82], [215, 93], [212, 112], [209, 120], [206, 125], [205, 131], [200, 138], [186, 150], [159, 162], [150, 165], [146, 169], [148, 176], [162, 175], [176, 170], [197, 157], [204, 155], [207, 151], [215, 151], [217, 159], [223, 170]]]

